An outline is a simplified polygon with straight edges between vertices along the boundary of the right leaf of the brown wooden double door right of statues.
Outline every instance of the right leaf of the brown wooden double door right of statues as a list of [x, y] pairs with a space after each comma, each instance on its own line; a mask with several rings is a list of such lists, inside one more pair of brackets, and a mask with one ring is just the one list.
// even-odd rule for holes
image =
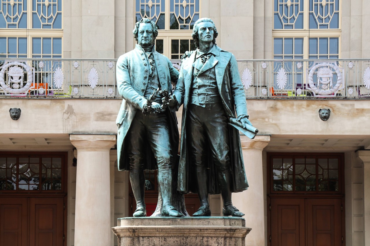
[[341, 199], [307, 199], [307, 246], [342, 244]]

